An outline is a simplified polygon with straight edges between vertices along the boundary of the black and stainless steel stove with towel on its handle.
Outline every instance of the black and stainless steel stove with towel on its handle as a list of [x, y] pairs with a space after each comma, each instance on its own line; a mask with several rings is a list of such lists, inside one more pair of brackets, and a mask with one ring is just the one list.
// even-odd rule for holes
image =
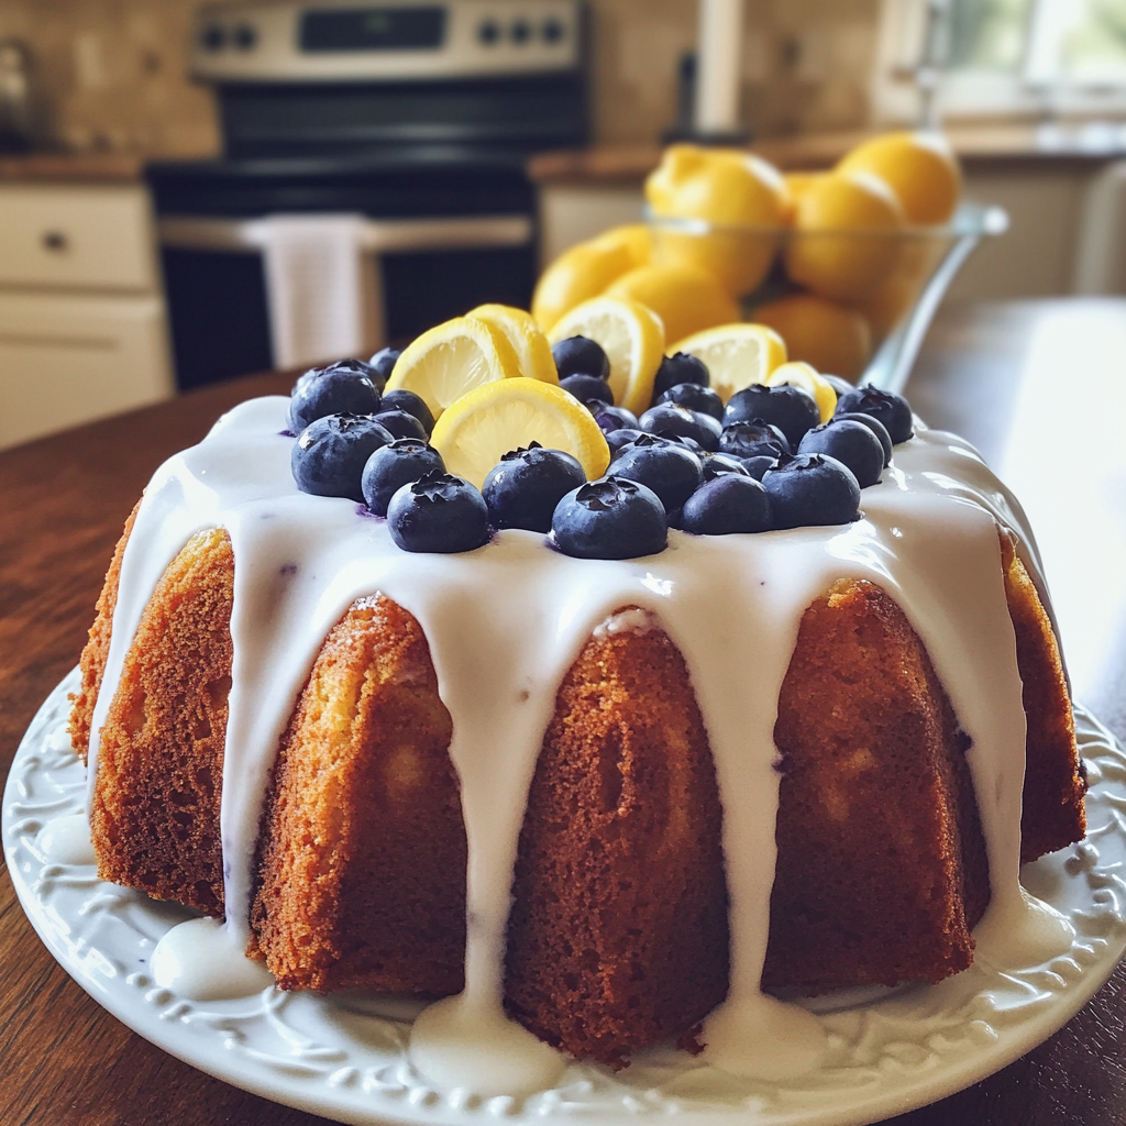
[[148, 168], [179, 385], [526, 307], [525, 163], [588, 140], [586, 25], [577, 0], [202, 10], [193, 74], [223, 155]]

